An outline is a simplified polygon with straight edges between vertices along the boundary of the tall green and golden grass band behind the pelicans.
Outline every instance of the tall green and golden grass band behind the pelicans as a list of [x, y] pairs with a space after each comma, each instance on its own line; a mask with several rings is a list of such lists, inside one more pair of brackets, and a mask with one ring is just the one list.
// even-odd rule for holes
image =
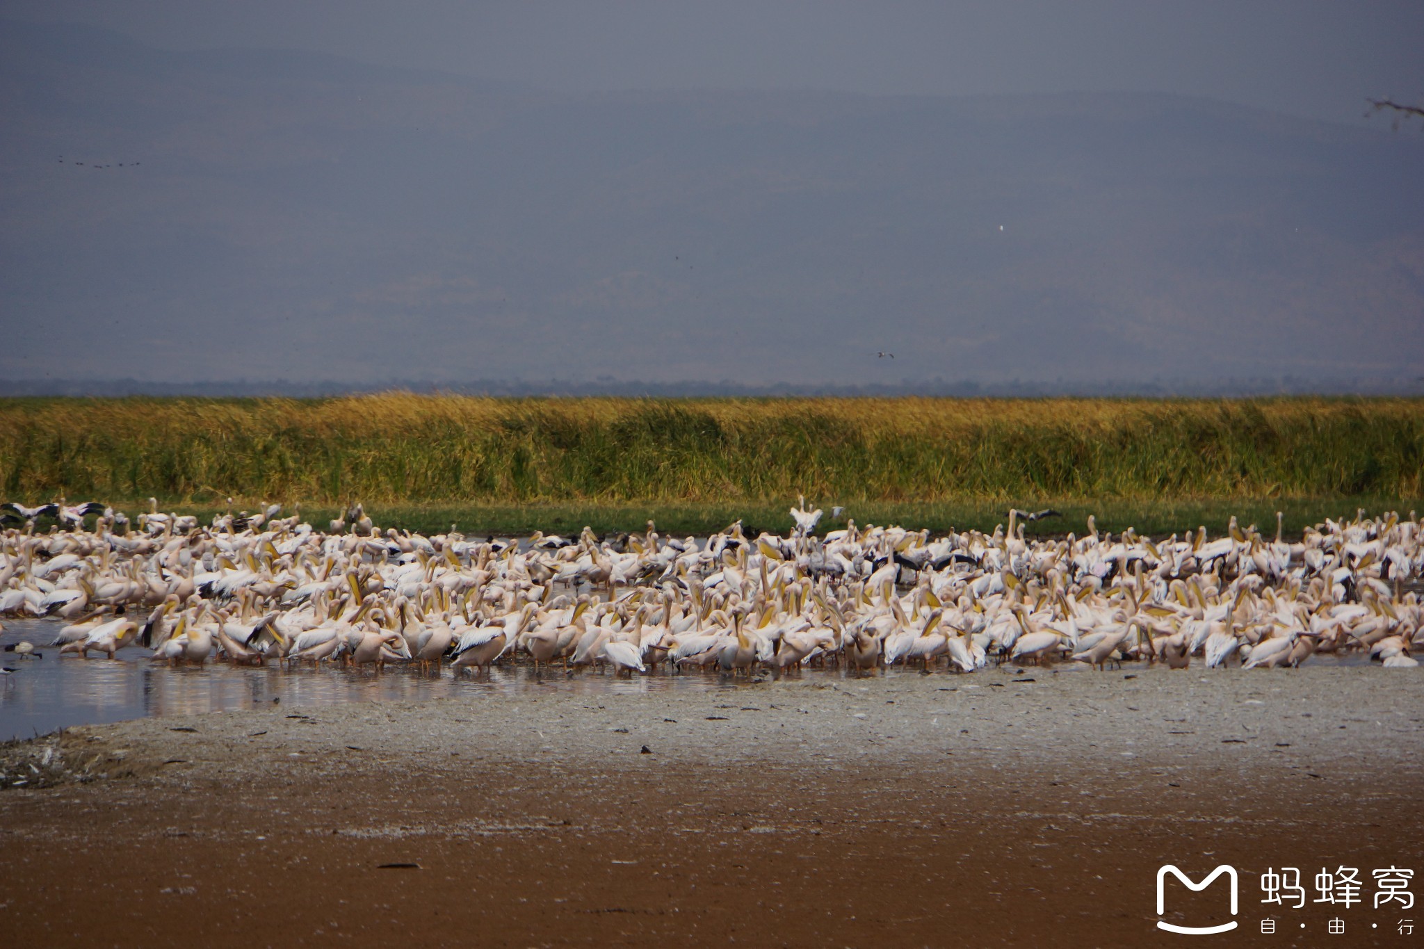
[[14, 499], [721, 516], [800, 492], [936, 522], [1038, 502], [1339, 512], [1424, 495], [1424, 400], [0, 400]]

